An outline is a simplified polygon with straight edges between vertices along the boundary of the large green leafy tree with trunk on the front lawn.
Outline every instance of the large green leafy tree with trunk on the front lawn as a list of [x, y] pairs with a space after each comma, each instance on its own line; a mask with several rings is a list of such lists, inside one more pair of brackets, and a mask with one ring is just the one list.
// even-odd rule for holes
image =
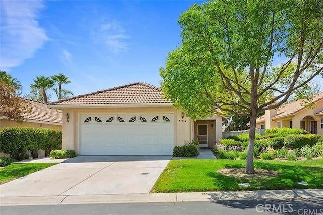
[[279, 108], [322, 72], [322, 18], [314, 0], [194, 4], [179, 18], [182, 44], [160, 69], [164, 93], [194, 119], [249, 116], [246, 173], [254, 173], [258, 113]]

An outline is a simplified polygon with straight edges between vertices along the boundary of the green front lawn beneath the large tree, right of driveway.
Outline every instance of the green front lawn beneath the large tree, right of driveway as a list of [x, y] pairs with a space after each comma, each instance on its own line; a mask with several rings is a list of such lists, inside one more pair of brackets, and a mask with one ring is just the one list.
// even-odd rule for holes
[[[255, 168], [276, 170], [277, 176], [236, 178], [218, 173], [223, 168], [244, 168], [244, 160], [171, 160], [151, 192], [203, 192], [323, 188], [323, 159], [304, 161], [255, 160]], [[308, 182], [308, 186], [297, 184]], [[240, 187], [238, 183], [250, 183]]]

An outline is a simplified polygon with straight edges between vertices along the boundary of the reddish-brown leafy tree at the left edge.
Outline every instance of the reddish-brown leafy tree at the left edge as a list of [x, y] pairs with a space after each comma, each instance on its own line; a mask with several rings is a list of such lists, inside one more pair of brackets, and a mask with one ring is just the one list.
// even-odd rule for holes
[[17, 95], [16, 88], [0, 80], [0, 116], [21, 122], [22, 113], [30, 112], [30, 103]]

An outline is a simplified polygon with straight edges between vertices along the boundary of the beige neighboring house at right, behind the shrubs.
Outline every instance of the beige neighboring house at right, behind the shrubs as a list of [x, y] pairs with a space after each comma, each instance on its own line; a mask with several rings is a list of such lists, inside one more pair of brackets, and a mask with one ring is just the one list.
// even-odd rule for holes
[[323, 93], [312, 96], [313, 108], [302, 100], [285, 104], [277, 110], [266, 110], [256, 120], [256, 128], [302, 128], [312, 134], [323, 135]]

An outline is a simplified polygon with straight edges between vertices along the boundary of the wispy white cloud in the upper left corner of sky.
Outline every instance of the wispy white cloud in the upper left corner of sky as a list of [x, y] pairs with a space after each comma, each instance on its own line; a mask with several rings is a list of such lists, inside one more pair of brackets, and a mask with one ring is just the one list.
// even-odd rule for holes
[[9, 70], [33, 57], [48, 40], [38, 25], [42, 1], [1, 1], [0, 69]]

